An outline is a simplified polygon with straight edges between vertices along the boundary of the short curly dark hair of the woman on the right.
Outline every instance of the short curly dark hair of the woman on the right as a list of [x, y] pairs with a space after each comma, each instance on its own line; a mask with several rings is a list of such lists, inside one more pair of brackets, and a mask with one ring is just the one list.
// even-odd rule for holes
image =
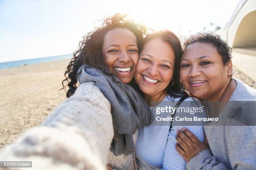
[[221, 39], [220, 35], [216, 35], [212, 32], [200, 32], [191, 35], [184, 41], [183, 49], [186, 50], [188, 45], [195, 42], [203, 42], [215, 47], [217, 52], [221, 55], [224, 64], [227, 64], [232, 58], [232, 48], [228, 46], [226, 41]]

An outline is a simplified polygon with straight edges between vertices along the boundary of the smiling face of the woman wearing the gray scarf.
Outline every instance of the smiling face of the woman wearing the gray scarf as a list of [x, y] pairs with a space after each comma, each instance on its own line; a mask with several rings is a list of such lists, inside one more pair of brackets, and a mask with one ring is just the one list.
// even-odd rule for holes
[[136, 36], [128, 29], [115, 28], [106, 33], [102, 47], [103, 61], [124, 84], [131, 82], [138, 62]]

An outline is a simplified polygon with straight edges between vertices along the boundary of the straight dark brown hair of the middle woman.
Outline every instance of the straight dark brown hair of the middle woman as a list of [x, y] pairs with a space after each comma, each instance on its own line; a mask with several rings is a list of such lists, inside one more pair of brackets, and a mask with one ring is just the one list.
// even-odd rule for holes
[[143, 41], [145, 45], [148, 41], [159, 38], [163, 42], [167, 42], [173, 49], [174, 58], [174, 72], [173, 77], [169, 85], [166, 87], [167, 94], [171, 96], [179, 96], [181, 93], [181, 82], [179, 78], [180, 60], [182, 56], [182, 46], [179, 38], [170, 30], [161, 30], [148, 34]]

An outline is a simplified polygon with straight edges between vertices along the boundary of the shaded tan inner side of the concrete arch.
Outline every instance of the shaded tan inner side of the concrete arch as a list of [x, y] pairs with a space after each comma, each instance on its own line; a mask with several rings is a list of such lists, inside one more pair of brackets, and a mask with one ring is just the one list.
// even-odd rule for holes
[[241, 21], [233, 41], [233, 47], [256, 47], [256, 10]]

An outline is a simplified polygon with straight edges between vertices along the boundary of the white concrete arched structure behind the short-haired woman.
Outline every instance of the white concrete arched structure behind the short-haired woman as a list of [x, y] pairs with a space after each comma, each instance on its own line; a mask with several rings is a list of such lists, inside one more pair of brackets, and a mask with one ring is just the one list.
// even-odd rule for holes
[[230, 47], [256, 47], [256, 0], [240, 0], [225, 28], [215, 33]]

